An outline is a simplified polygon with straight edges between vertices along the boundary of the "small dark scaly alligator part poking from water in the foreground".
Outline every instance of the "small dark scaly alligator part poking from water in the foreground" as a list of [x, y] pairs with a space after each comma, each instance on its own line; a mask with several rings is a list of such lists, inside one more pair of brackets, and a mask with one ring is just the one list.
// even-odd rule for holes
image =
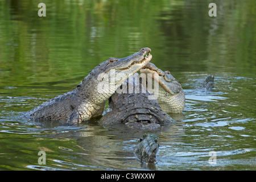
[[156, 134], [144, 134], [134, 148], [137, 157], [147, 164], [155, 164], [156, 152], [158, 151], [158, 137]]

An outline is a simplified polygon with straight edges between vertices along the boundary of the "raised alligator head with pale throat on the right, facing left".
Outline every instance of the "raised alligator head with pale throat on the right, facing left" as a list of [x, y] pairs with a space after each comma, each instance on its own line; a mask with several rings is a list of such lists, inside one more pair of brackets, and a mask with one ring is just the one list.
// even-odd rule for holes
[[[181, 113], [185, 107], [185, 94], [179, 82], [171, 75], [170, 71], [163, 72], [154, 64], [148, 63], [141, 69], [152, 81], [159, 83], [159, 90], [148, 88], [157, 98], [158, 104], [166, 113]], [[151, 74], [150, 74], [151, 73]]]

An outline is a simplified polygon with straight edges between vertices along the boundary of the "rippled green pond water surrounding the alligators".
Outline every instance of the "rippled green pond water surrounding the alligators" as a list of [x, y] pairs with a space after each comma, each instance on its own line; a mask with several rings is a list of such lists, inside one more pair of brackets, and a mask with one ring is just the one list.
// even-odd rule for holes
[[[255, 2], [0, 0], [0, 169], [255, 170]], [[154, 132], [155, 166], [133, 147], [145, 131], [37, 123], [26, 111], [67, 92], [108, 57], [152, 49], [183, 86], [183, 114]], [[214, 89], [196, 92], [203, 78]], [[106, 107], [108, 105], [106, 104]], [[38, 152], [46, 152], [46, 164]], [[210, 164], [209, 152], [216, 154]]]

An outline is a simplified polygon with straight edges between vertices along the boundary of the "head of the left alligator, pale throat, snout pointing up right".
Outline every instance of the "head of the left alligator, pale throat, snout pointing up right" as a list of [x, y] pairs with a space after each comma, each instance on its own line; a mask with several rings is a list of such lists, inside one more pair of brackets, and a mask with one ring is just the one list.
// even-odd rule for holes
[[[84, 89], [89, 101], [105, 102], [128, 77], [151, 60], [150, 52], [150, 48], [142, 48], [141, 51], [121, 59], [109, 57], [94, 68], [79, 87]], [[86, 85], [82, 86], [84, 82]]]

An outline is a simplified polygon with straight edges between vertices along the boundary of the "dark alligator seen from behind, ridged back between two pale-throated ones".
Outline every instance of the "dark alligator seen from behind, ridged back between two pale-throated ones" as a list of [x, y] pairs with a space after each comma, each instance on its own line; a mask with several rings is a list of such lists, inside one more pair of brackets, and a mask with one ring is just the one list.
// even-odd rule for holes
[[164, 113], [141, 80], [139, 74], [134, 73], [115, 91], [109, 98], [112, 111], [102, 116], [99, 125], [124, 123], [137, 129], [157, 129], [161, 123], [174, 121], [170, 115]]

